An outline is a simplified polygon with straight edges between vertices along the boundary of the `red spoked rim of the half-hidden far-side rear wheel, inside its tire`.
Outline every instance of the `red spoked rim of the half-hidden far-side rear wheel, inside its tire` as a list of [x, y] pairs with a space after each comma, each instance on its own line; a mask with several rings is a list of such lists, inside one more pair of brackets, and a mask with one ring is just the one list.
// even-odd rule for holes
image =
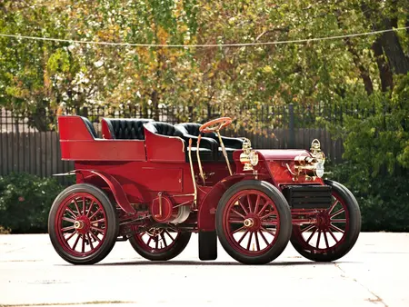
[[151, 228], [147, 232], [136, 234], [135, 241], [147, 253], [165, 253], [175, 245], [179, 236], [179, 232]]

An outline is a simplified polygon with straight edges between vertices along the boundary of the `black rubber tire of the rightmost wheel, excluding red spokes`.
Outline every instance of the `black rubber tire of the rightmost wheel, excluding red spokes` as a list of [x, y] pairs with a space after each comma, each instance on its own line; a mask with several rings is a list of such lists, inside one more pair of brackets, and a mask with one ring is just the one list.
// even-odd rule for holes
[[349, 253], [354, 247], [354, 244], [358, 240], [359, 233], [361, 232], [361, 210], [353, 193], [341, 183], [331, 180], [325, 180], [324, 183], [332, 187], [333, 195], [337, 195], [337, 198], [343, 200], [343, 207], [345, 206], [346, 208], [344, 215], [345, 219], [348, 217], [349, 224], [345, 227], [343, 237], [339, 243], [335, 243], [333, 247], [326, 249], [326, 251], [324, 250], [324, 252], [306, 243], [302, 239], [302, 235], [300, 236], [299, 226], [294, 225], [290, 242], [298, 253], [306, 259], [314, 262], [334, 262], [335, 260], [344, 257], [344, 255]]

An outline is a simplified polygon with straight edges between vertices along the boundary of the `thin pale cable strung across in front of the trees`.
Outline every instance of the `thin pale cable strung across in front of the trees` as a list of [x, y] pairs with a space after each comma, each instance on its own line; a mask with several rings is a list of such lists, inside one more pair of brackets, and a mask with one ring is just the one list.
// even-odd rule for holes
[[80, 41], [80, 40], [72, 40], [72, 39], [61, 39], [61, 38], [53, 38], [53, 37], [9, 35], [9, 34], [0, 34], [0, 37], [10, 37], [10, 38], [16, 38], [16, 39], [30, 39], [30, 40], [39, 40], [39, 41], [76, 43], [76, 44], [89, 44], [89, 45], [115, 45], [115, 46], [162, 47], [162, 48], [206, 48], [206, 47], [244, 47], [244, 46], [256, 46], [256, 45], [301, 44], [301, 43], [309, 43], [309, 42], [342, 39], [342, 38], [348, 38], [348, 37], [377, 35], [377, 34], [383, 34], [383, 33], [393, 32], [393, 31], [402, 31], [402, 30], [407, 30], [407, 29], [409, 29], [409, 26], [397, 27], [394, 29], [387, 29], [387, 30], [349, 34], [349, 35], [334, 35], [334, 36], [313, 37], [313, 38], [294, 39], [294, 40], [286, 40], [286, 41], [236, 43], [236, 44], [203, 44], [203, 45], [166, 45], [166, 44], [96, 42], [96, 41]]

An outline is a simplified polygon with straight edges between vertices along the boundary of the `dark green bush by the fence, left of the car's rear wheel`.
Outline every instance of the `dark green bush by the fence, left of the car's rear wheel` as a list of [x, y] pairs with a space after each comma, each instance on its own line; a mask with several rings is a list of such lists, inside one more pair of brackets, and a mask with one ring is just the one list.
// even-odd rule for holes
[[0, 229], [46, 233], [50, 207], [64, 188], [55, 178], [28, 173], [0, 176]]

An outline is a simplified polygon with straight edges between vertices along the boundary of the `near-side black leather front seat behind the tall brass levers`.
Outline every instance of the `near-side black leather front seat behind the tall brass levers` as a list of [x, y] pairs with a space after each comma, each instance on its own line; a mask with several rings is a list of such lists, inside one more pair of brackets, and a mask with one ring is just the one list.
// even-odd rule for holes
[[[153, 134], [164, 136], [177, 136], [185, 142], [186, 162], [189, 161], [189, 135], [183, 134], [179, 129], [176, 129], [173, 124], [163, 122], [149, 122], [144, 124], [145, 128]], [[202, 161], [214, 161], [214, 140], [203, 139], [200, 141], [199, 154]], [[197, 137], [192, 137], [192, 160], [197, 161]]]

